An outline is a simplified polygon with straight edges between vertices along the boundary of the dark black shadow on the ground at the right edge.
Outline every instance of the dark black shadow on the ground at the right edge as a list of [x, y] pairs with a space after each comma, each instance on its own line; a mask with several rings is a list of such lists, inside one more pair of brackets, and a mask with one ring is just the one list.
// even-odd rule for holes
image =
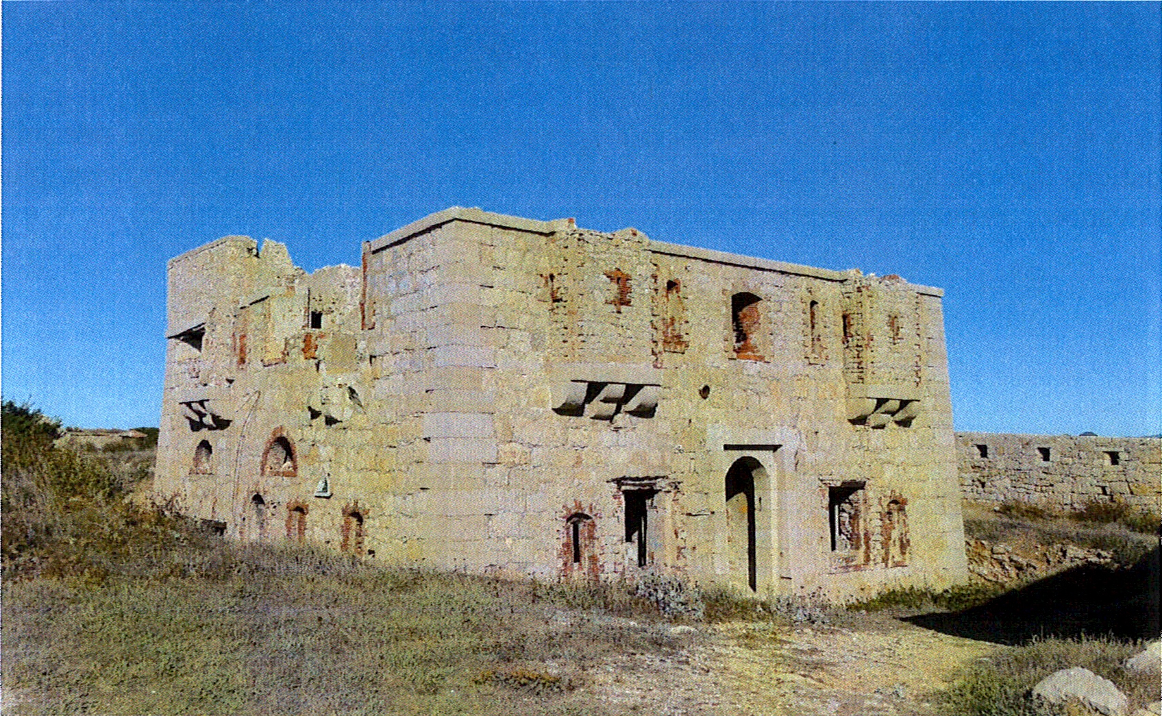
[[1082, 635], [1156, 639], [1159, 554], [1155, 547], [1128, 568], [1075, 567], [971, 609], [906, 621], [941, 633], [1010, 645], [1034, 637]]

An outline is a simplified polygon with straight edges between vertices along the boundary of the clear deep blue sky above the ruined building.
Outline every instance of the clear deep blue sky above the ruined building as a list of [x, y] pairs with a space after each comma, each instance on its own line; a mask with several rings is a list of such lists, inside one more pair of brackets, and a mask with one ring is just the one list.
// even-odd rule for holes
[[3, 2], [3, 396], [156, 425], [167, 258], [459, 205], [939, 286], [957, 429], [1162, 432], [1160, 7]]

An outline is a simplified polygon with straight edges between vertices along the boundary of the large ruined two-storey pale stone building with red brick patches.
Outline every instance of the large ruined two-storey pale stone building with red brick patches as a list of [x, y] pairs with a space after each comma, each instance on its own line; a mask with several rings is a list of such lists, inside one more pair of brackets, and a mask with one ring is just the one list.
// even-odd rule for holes
[[229, 536], [760, 595], [966, 574], [941, 292], [452, 208], [168, 265], [155, 493]]

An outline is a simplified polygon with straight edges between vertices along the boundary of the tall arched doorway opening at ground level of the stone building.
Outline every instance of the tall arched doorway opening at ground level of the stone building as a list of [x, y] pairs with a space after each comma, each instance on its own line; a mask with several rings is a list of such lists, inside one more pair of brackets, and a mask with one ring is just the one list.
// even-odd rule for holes
[[[726, 561], [730, 581], [759, 590], [762, 544], [768, 539], [760, 534], [759, 514], [766, 491], [767, 473], [752, 457], [734, 460], [726, 472]], [[760, 544], [762, 543], [762, 544]]]

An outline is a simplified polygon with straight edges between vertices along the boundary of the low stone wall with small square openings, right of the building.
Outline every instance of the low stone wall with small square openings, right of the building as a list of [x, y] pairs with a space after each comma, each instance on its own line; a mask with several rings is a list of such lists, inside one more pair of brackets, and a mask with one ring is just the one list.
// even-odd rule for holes
[[964, 496], [1079, 509], [1125, 502], [1162, 513], [1162, 439], [957, 432]]

